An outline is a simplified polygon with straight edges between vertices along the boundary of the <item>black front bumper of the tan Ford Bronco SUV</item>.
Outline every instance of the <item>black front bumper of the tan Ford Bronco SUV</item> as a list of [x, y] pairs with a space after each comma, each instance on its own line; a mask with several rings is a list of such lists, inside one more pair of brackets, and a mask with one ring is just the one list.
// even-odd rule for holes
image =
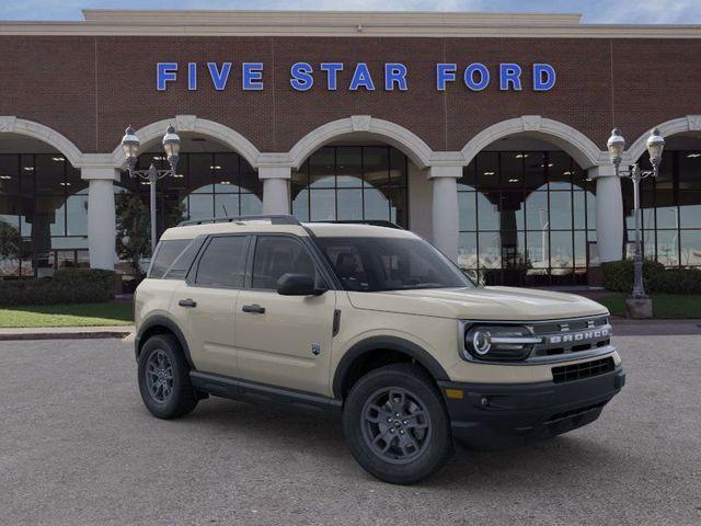
[[[554, 384], [439, 381], [453, 436], [473, 449], [502, 449], [555, 436], [594, 422], [625, 384], [610, 373]], [[460, 398], [462, 397], [462, 398]]]

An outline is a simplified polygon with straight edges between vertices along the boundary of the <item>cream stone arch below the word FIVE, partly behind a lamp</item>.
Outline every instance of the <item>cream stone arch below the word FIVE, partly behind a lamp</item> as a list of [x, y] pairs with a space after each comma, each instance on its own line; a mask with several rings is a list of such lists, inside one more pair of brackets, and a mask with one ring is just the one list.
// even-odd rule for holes
[[[138, 129], [136, 136], [139, 138], [141, 144], [145, 145], [154, 139], [160, 139], [170, 124], [175, 126], [177, 133], [189, 132], [217, 139], [231, 147], [253, 168], [257, 169], [258, 167], [258, 156], [261, 152], [253, 142], [237, 130], [225, 126], [223, 124], [215, 123], [214, 121], [208, 121], [206, 118], [199, 118], [195, 115], [176, 115], [175, 118], [165, 118], [163, 121], [151, 123]], [[112, 162], [117, 169], [124, 170], [126, 168], [122, 145], [117, 145], [112, 152]]]

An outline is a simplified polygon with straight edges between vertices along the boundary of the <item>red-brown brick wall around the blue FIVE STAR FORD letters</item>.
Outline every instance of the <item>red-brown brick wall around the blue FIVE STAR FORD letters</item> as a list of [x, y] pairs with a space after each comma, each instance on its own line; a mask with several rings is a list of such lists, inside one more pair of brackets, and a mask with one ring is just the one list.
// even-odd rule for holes
[[[632, 141], [660, 122], [701, 114], [700, 54], [701, 39], [1, 36], [0, 115], [45, 124], [84, 152], [112, 151], [127, 124], [176, 114], [230, 126], [261, 151], [286, 151], [311, 129], [353, 114], [405, 126], [436, 150], [458, 150], [494, 123], [539, 114], [604, 148], [614, 124]], [[345, 62], [338, 91], [326, 91], [320, 72], [311, 91], [292, 90], [289, 67], [298, 60]], [[156, 90], [158, 61], [181, 64], [179, 82], [165, 92]], [[188, 61], [200, 65], [197, 91], [186, 89]], [[226, 91], [211, 87], [207, 61], [233, 62]], [[242, 61], [265, 64], [264, 91], [240, 89]], [[347, 91], [357, 61], [369, 64], [377, 91]], [[382, 89], [386, 61], [409, 67], [409, 91]], [[446, 92], [435, 87], [440, 61], [459, 65]], [[461, 83], [460, 70], [473, 61], [492, 72], [479, 93]], [[498, 90], [501, 61], [524, 67], [524, 91]], [[555, 67], [552, 91], [532, 91], [536, 61]]]

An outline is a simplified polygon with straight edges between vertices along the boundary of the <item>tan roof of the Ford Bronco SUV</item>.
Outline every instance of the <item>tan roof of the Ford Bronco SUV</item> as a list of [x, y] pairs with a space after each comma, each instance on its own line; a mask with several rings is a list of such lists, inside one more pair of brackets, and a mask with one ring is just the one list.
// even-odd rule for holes
[[204, 225], [185, 225], [169, 228], [161, 236], [162, 240], [193, 239], [197, 236], [212, 233], [292, 233], [308, 237], [309, 231], [321, 238], [326, 237], [371, 237], [371, 238], [416, 238], [409, 230], [376, 227], [370, 225], [348, 225], [332, 222], [303, 222], [301, 225], [274, 225], [266, 221], [250, 222], [215, 222]]

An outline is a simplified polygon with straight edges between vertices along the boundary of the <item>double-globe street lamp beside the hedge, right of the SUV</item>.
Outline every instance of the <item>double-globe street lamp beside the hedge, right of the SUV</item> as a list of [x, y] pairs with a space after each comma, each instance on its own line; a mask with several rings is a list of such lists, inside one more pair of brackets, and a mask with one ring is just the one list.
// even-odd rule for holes
[[650, 153], [650, 162], [652, 170], [641, 170], [637, 163], [621, 170], [621, 161], [623, 159], [623, 150], [625, 149], [625, 139], [621, 132], [617, 128], [611, 132], [611, 137], [607, 142], [611, 164], [616, 169], [616, 175], [629, 178], [633, 182], [633, 209], [635, 214], [635, 260], [633, 263], [634, 282], [633, 282], [633, 299], [646, 299], [645, 287], [643, 284], [643, 251], [641, 242], [641, 210], [640, 210], [640, 182], [646, 178], [656, 178], [659, 172], [659, 163], [662, 162], [662, 152], [665, 148], [665, 139], [659, 135], [657, 128], [653, 129], [647, 138], [647, 152]]

